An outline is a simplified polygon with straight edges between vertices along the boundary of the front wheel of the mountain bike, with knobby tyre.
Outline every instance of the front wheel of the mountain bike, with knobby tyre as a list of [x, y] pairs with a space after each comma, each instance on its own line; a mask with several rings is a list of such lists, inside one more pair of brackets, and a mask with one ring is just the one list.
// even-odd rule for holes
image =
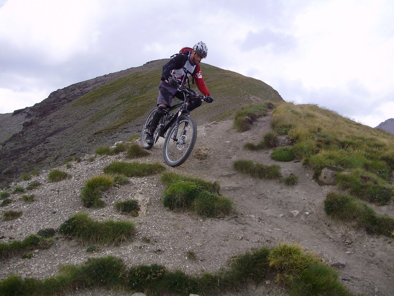
[[173, 140], [174, 132], [175, 124], [170, 127], [163, 147], [164, 161], [172, 167], [184, 163], [192, 153], [197, 140], [197, 124], [192, 117], [184, 115], [179, 122], [176, 141]]

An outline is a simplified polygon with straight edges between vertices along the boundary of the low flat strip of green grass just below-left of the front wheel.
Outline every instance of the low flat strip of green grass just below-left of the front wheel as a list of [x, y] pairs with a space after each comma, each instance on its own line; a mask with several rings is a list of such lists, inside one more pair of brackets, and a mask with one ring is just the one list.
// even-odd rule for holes
[[104, 168], [104, 173], [124, 175], [126, 177], [144, 177], [154, 175], [165, 170], [160, 163], [138, 163], [115, 161]]

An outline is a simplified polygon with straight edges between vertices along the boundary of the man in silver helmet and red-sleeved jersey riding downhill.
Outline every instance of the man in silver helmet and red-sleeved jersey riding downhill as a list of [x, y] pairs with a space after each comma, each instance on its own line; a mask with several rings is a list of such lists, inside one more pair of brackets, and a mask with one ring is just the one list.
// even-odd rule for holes
[[[171, 106], [172, 98], [177, 97], [180, 100], [185, 99], [183, 93], [178, 91], [177, 87], [179, 85], [185, 86], [186, 80], [189, 76], [192, 76], [195, 79], [197, 88], [205, 96], [205, 102], [213, 102], [211, 93], [208, 91], [204, 79], [202, 79], [199, 65], [201, 60], [206, 58], [207, 54], [208, 48], [206, 47], [206, 44], [199, 41], [193, 47], [193, 50], [184, 54], [176, 55], [164, 65], [161, 78], [162, 81], [159, 84], [159, 96], [157, 99], [157, 106], [159, 108], [152, 118], [149, 133], [145, 138], [145, 142], [147, 144], [154, 144], [153, 133], [159, 124], [160, 118], [164, 115], [164, 109]], [[197, 95], [194, 90], [189, 90]], [[188, 111], [192, 111], [199, 106], [201, 106], [201, 101], [191, 100], [188, 105]]]

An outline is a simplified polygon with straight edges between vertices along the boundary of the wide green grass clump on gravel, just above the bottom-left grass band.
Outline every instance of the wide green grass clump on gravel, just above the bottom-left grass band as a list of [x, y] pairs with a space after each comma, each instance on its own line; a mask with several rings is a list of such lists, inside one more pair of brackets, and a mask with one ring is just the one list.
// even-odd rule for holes
[[60, 225], [59, 233], [76, 237], [83, 245], [118, 245], [131, 239], [134, 228], [134, 223], [130, 221], [97, 222], [87, 213], [76, 213]]

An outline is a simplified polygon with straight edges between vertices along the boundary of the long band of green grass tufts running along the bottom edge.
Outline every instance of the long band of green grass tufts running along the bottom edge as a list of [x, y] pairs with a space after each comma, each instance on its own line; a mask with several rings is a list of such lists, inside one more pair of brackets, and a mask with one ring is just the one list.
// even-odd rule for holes
[[[89, 249], [96, 249], [94, 247]], [[56, 277], [44, 280], [10, 275], [0, 280], [0, 294], [61, 295], [80, 288], [104, 287], [143, 291], [146, 295], [216, 295], [221, 291], [239, 291], [249, 282], [258, 285], [265, 279], [272, 279], [275, 270], [298, 270], [299, 276], [293, 276], [292, 280], [286, 277], [286, 288], [291, 295], [351, 296], [337, 280], [335, 271], [317, 259], [310, 259], [310, 255], [298, 252], [293, 246], [287, 249], [281, 246], [279, 252], [274, 249], [263, 247], [235, 256], [229, 262], [230, 268], [198, 276], [181, 270], [170, 271], [159, 264], [134, 265], [126, 269], [121, 259], [112, 256], [90, 258], [79, 266], [63, 266]], [[194, 258], [194, 252], [189, 251], [188, 256]], [[307, 259], [308, 264], [300, 259]], [[278, 262], [278, 269], [270, 266], [275, 262]]]

